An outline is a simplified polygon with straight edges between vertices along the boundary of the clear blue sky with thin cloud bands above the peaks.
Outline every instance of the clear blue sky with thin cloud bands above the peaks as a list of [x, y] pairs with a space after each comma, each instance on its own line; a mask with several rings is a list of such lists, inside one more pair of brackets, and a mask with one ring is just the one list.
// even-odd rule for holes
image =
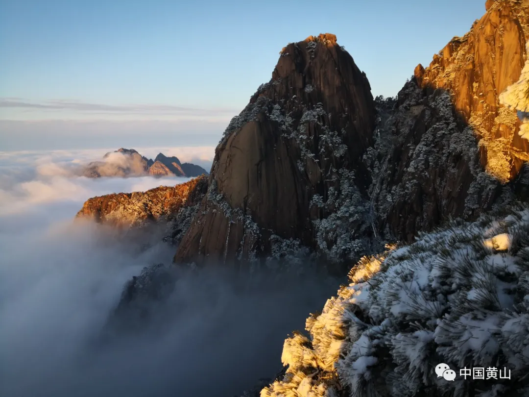
[[211, 145], [281, 48], [322, 32], [373, 95], [396, 95], [484, 13], [485, 0], [0, 0], [0, 150]]

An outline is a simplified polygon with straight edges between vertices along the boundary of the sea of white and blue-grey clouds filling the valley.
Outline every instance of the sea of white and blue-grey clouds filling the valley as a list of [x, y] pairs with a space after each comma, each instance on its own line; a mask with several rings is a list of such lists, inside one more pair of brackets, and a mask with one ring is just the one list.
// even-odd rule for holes
[[[135, 149], [213, 157], [212, 148]], [[0, 152], [0, 395], [229, 397], [273, 376], [283, 340], [323, 307], [334, 279], [263, 276], [249, 288], [229, 270], [195, 274], [178, 280], [166, 304], [153, 304], [158, 320], [97, 342], [126, 281], [169, 264], [175, 249], [140, 250], [75, 214], [92, 196], [187, 180], [70, 172], [107, 151]]]

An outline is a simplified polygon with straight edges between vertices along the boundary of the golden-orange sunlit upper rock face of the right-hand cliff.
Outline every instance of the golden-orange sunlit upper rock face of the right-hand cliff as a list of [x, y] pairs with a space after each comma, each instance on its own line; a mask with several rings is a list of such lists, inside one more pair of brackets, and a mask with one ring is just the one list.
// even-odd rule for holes
[[[499, 95], [516, 82], [527, 57], [529, 2], [489, 2], [487, 13], [463, 37], [454, 37], [426, 69], [415, 70], [421, 87], [453, 94], [455, 108], [477, 133], [482, 164], [503, 182], [529, 160], [529, 141], [519, 134], [516, 115], [500, 106]], [[514, 127], [514, 128], [513, 128]]]

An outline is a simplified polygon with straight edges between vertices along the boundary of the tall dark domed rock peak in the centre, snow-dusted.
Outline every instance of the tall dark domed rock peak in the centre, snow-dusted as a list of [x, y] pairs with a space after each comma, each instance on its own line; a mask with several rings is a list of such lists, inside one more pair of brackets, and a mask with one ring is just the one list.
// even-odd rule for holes
[[300, 245], [358, 257], [374, 126], [369, 82], [334, 35], [288, 44], [224, 132], [175, 260], [253, 260]]

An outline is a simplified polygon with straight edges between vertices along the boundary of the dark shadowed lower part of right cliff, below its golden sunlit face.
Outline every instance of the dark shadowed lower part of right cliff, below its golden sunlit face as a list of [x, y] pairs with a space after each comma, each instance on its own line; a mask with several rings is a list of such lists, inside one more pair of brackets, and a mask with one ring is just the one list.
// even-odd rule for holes
[[423, 90], [412, 80], [399, 92], [396, 108], [387, 111], [391, 116], [377, 132], [390, 143], [375, 157], [366, 156], [382, 236], [412, 242], [419, 231], [450, 217], [473, 219], [492, 209], [501, 183], [483, 170], [476, 137], [448, 92]]

